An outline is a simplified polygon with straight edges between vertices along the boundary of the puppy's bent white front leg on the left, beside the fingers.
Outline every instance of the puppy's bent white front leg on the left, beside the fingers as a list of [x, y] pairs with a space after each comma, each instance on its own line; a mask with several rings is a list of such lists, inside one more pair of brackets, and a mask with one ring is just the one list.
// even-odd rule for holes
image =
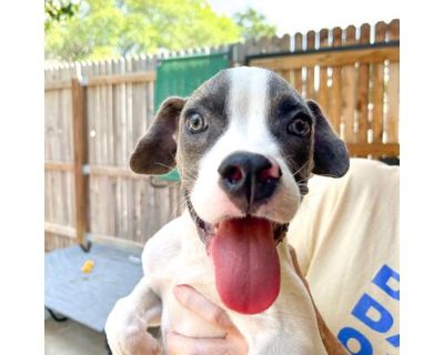
[[119, 300], [108, 316], [105, 333], [113, 355], [158, 355], [160, 344], [148, 333], [160, 323], [162, 304], [143, 277], [127, 297]]

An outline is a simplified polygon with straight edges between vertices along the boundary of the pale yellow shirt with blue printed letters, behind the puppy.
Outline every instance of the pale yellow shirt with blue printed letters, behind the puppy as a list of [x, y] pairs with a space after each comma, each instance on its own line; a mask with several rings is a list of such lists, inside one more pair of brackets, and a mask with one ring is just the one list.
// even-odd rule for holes
[[398, 354], [398, 166], [352, 159], [309, 187], [289, 242], [322, 316], [351, 354]]

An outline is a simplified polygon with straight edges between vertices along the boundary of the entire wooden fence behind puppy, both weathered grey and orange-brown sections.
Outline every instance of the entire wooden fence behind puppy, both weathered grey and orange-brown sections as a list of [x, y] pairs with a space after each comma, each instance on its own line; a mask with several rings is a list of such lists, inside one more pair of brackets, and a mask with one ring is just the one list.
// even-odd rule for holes
[[[232, 65], [249, 62], [281, 73], [321, 103], [355, 155], [379, 156], [398, 155], [396, 41], [398, 20], [212, 51], [230, 51]], [[376, 47], [350, 47], [356, 44]], [[84, 242], [85, 235], [140, 246], [180, 212], [178, 185], [154, 186], [128, 169], [154, 115], [155, 68], [164, 57], [46, 70], [47, 251]]]

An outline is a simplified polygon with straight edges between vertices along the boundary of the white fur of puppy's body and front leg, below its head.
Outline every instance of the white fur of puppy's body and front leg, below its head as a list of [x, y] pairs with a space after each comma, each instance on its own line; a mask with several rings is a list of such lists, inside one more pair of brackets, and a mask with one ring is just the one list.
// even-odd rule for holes
[[[114, 355], [142, 353], [143, 344], [155, 349], [154, 339], [142, 332], [155, 325], [162, 307], [162, 334], [173, 331], [191, 337], [221, 337], [221, 329], [181, 306], [172, 295], [178, 284], [189, 284], [230, 315], [249, 343], [250, 355], [324, 355], [310, 295], [294, 273], [286, 242], [278, 246], [281, 292], [263, 313], [241, 315], [226, 308], [215, 290], [211, 261], [188, 213], [167, 224], [147, 243], [142, 263], [149, 277], [119, 301], [107, 321], [105, 332]], [[160, 304], [162, 300], [162, 305]], [[141, 320], [143, 322], [141, 322]], [[165, 336], [163, 337], [165, 338]], [[144, 345], [144, 348], [148, 346]]]

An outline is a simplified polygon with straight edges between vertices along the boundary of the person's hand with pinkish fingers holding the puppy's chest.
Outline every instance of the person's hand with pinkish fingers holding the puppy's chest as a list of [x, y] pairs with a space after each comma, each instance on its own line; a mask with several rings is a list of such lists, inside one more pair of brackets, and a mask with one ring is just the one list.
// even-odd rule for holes
[[181, 334], [168, 333], [168, 354], [171, 355], [244, 355], [249, 352], [245, 338], [230, 321], [224, 310], [208, 301], [198, 291], [188, 285], [174, 287], [174, 295], [178, 301], [188, 310], [225, 332], [224, 337], [198, 338], [188, 337]]

